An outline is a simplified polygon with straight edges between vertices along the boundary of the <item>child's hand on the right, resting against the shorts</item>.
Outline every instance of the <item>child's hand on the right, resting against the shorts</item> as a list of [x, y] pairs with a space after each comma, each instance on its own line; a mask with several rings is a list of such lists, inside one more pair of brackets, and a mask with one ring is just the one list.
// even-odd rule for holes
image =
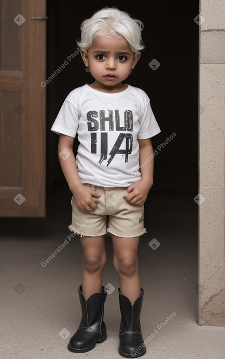
[[144, 179], [132, 183], [127, 187], [128, 195], [124, 197], [125, 200], [132, 204], [142, 205], [147, 199], [152, 184], [153, 181], [146, 181]]

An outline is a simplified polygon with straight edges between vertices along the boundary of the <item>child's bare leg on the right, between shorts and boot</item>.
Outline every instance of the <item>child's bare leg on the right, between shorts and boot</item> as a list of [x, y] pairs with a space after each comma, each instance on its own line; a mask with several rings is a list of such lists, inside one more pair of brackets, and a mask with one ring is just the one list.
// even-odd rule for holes
[[140, 237], [122, 238], [111, 234], [113, 265], [120, 279], [120, 292], [133, 303], [141, 294], [138, 272], [138, 244]]

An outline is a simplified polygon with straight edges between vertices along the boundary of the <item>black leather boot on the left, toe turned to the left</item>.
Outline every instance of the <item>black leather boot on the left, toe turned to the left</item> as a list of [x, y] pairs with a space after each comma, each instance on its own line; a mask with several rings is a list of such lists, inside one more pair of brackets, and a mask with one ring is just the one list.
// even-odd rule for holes
[[86, 300], [82, 286], [78, 288], [82, 318], [79, 328], [70, 339], [68, 349], [75, 353], [92, 350], [96, 343], [102, 343], [106, 337], [106, 326], [103, 322], [104, 302], [107, 293], [102, 287], [101, 292], [91, 294]]

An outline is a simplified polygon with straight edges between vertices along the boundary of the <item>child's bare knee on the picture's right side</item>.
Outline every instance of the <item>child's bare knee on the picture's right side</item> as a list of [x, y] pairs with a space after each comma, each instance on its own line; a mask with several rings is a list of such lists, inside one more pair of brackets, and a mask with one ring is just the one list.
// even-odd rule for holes
[[133, 276], [138, 270], [138, 258], [136, 256], [114, 258], [113, 265], [118, 275]]

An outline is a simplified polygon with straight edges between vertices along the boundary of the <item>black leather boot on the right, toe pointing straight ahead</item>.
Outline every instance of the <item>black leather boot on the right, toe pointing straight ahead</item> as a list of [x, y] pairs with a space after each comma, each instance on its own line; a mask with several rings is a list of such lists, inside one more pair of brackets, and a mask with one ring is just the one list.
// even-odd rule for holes
[[145, 343], [141, 333], [140, 314], [144, 295], [141, 295], [132, 304], [127, 296], [119, 292], [121, 324], [120, 324], [120, 346], [119, 354], [124, 358], [138, 358], [146, 353]]

